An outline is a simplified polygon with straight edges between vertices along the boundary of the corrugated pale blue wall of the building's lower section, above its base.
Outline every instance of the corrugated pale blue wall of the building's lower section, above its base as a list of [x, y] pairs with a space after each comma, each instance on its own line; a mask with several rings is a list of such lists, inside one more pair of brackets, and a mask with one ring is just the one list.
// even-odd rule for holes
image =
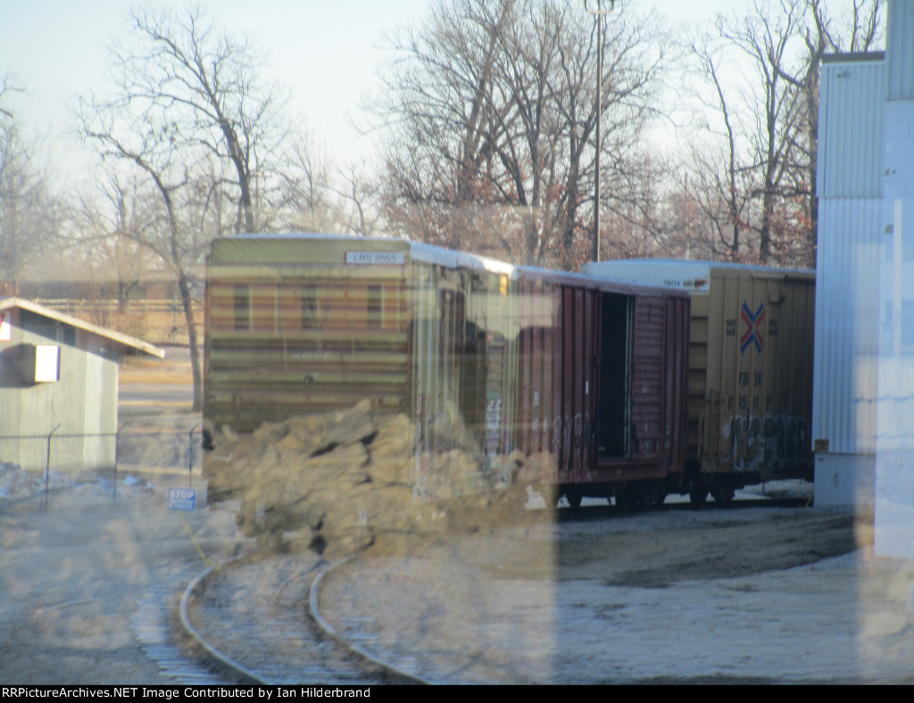
[[886, 69], [873, 59], [822, 74], [813, 442], [832, 453], [876, 449]]

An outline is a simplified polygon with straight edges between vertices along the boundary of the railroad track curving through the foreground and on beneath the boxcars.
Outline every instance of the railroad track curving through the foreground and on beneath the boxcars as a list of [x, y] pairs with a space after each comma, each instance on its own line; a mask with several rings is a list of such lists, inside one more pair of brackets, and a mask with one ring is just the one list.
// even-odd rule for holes
[[[796, 499], [741, 500], [742, 508], [798, 507]], [[688, 503], [661, 510], [694, 510]], [[707, 509], [705, 509], [707, 510]], [[722, 509], [723, 510], [723, 509]], [[558, 510], [558, 522], [627, 515], [612, 506]], [[339, 620], [342, 635], [324, 622], [316, 592], [327, 564], [313, 552], [233, 561], [204, 572], [182, 601], [186, 629], [198, 648], [188, 654], [168, 634], [174, 588], [148, 592], [133, 628], [149, 656], [168, 677], [182, 683], [373, 686], [430, 683], [411, 676], [416, 662], [376, 645], [379, 625], [372, 618]], [[174, 585], [174, 584], [172, 584]], [[369, 650], [375, 654], [369, 653]], [[387, 661], [379, 661], [386, 656]], [[209, 668], [202, 664], [206, 660]], [[215, 667], [215, 673], [214, 668]]]

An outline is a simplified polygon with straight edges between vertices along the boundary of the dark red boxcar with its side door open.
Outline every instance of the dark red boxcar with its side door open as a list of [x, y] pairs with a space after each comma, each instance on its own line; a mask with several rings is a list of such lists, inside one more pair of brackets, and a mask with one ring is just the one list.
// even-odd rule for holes
[[688, 300], [649, 287], [520, 268], [517, 446], [546, 483], [662, 502], [684, 459]]

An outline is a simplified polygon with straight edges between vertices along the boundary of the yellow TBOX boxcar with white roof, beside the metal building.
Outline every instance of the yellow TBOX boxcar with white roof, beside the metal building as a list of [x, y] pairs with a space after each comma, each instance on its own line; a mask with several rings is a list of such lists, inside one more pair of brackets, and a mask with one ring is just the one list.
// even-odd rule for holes
[[694, 502], [813, 479], [813, 271], [665, 259], [584, 270], [691, 295], [685, 470]]

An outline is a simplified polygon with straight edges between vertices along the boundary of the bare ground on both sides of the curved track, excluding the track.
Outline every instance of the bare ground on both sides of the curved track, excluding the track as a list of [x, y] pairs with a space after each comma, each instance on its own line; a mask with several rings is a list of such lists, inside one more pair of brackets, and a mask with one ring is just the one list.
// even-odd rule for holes
[[[168, 683], [137, 642], [138, 603], [202, 571], [201, 553], [253, 549], [226, 510], [185, 525], [165, 509], [166, 488], [186, 485], [199, 415], [186, 383], [143, 390], [139, 368], [122, 376], [139, 445], [116, 504], [106, 477], [52, 493], [47, 510], [0, 497], [0, 683]], [[143, 439], [155, 427], [171, 438]], [[528, 512], [348, 562], [322, 608], [431, 681], [914, 682], [914, 564], [872, 556], [871, 516], [739, 500]]]

